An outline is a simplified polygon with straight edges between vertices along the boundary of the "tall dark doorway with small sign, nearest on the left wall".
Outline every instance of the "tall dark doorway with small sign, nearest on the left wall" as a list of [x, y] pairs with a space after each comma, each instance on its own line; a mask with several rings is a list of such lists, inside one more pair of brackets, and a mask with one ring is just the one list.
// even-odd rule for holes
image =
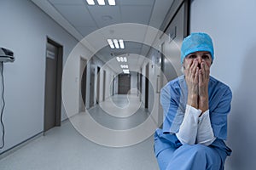
[[44, 132], [61, 126], [61, 76], [63, 47], [47, 37], [44, 86]]

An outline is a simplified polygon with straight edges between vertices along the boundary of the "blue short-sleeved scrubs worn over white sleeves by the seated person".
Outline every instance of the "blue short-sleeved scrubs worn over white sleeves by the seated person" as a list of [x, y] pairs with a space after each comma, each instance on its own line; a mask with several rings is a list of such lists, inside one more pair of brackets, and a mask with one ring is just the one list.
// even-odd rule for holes
[[231, 150], [227, 138], [227, 115], [232, 94], [230, 88], [213, 77], [209, 80], [209, 112], [216, 139], [209, 146], [181, 144], [176, 134], [183, 122], [188, 88], [184, 76], [168, 82], [161, 89], [160, 102], [165, 121], [154, 134], [154, 153], [160, 170], [222, 170]]

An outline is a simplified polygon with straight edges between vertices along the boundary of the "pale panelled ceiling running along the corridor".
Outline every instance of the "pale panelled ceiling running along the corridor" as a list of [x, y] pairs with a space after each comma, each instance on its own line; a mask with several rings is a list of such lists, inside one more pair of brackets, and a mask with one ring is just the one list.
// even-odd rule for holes
[[[121, 23], [137, 23], [160, 29], [173, 1], [116, 0], [115, 6], [99, 6], [97, 4], [91, 6], [86, 3], [86, 0], [32, 0], [78, 41], [91, 35], [94, 31]], [[102, 41], [107, 42], [106, 38], [108, 37], [102, 37]], [[106, 63], [117, 54], [145, 55], [148, 49], [143, 43], [125, 42], [125, 49], [112, 49], [106, 46], [97, 51], [96, 55]], [[134, 57], [139, 55], [134, 55]], [[138, 65], [137, 62], [143, 62], [142, 59], [130, 60], [135, 60], [136, 63], [129, 65]]]

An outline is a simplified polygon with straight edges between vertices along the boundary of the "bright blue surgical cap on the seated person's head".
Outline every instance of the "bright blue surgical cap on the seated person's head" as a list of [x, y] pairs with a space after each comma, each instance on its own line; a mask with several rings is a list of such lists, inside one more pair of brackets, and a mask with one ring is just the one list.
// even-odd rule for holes
[[214, 59], [212, 38], [207, 33], [195, 32], [185, 37], [181, 47], [181, 63], [188, 54], [197, 51], [208, 51]]

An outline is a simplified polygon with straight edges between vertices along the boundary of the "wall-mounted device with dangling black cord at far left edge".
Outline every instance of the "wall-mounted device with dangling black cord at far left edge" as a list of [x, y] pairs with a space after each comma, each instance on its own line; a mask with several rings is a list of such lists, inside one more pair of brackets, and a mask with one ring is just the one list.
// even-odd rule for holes
[[[4, 146], [4, 124], [3, 124], [3, 110], [4, 110], [4, 106], [5, 106], [5, 101], [3, 98], [3, 94], [4, 94], [4, 82], [3, 82], [3, 63], [6, 62], [14, 62], [15, 61], [15, 57], [14, 57], [14, 53], [7, 49], [7, 48], [0, 48], [0, 89], [2, 88], [2, 93], [0, 94], [0, 99], [2, 99], [1, 105], [0, 105], [0, 123], [1, 123], [1, 127], [2, 127], [2, 144], [0, 144], [0, 149], [3, 149]], [[1, 83], [2, 82], [2, 83]], [[3, 103], [3, 104], [2, 104]]]

